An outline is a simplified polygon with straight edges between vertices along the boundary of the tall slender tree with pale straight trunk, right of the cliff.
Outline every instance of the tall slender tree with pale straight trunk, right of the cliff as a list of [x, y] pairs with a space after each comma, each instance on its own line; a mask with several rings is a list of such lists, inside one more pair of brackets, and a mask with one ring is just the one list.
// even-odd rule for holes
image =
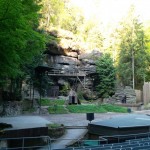
[[118, 30], [120, 38], [118, 75], [124, 85], [141, 87], [147, 68], [145, 34], [132, 6]]

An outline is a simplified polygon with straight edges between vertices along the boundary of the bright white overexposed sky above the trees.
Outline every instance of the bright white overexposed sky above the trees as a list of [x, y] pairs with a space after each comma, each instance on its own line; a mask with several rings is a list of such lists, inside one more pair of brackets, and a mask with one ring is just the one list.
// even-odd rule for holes
[[131, 4], [142, 21], [150, 20], [150, 0], [71, 0], [84, 11], [85, 17], [96, 17], [103, 24], [117, 23], [126, 15]]

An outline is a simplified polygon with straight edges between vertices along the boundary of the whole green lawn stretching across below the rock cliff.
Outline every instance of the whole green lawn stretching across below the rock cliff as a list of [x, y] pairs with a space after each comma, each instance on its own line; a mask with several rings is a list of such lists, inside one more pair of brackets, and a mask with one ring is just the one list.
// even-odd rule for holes
[[65, 107], [65, 100], [48, 100], [42, 99], [42, 106], [49, 106], [50, 114], [65, 114], [65, 113], [106, 113], [106, 112], [120, 112], [127, 113], [127, 108], [111, 104], [81, 104], [81, 105], [67, 105]]

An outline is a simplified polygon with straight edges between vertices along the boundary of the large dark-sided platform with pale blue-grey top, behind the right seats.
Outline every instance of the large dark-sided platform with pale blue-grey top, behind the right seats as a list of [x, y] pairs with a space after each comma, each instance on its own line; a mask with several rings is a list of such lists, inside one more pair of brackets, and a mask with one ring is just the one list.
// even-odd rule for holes
[[150, 132], [150, 116], [128, 114], [88, 124], [89, 134], [99, 136], [126, 135]]

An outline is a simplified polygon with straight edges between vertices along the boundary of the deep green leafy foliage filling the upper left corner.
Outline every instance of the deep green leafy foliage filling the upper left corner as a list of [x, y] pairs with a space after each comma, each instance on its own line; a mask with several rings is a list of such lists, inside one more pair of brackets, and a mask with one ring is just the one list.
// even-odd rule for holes
[[0, 77], [22, 75], [22, 66], [45, 47], [37, 31], [38, 0], [0, 1]]

